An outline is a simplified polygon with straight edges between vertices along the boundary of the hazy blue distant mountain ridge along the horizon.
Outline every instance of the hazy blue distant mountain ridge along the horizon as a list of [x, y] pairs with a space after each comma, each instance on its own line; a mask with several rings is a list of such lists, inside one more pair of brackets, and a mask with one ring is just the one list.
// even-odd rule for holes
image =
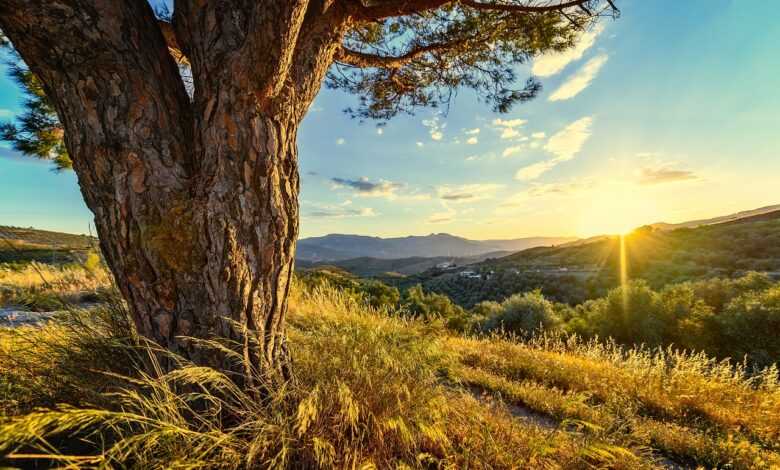
[[371, 257], [472, 257], [491, 252], [515, 252], [535, 246], [569, 243], [574, 237], [527, 237], [514, 240], [469, 240], [448, 233], [395, 238], [330, 234], [298, 240], [296, 257], [305, 261], [339, 261]]

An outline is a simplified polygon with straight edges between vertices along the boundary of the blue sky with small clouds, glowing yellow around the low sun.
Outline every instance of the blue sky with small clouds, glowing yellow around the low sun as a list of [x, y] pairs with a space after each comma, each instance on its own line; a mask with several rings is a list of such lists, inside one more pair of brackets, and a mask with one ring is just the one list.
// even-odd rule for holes
[[[378, 128], [323, 87], [298, 134], [301, 237], [587, 237], [780, 203], [780, 23], [746, 3], [621, 0], [519, 67], [544, 90], [506, 114], [461, 92]], [[75, 175], [51, 168], [0, 143], [0, 225], [89, 230]]]

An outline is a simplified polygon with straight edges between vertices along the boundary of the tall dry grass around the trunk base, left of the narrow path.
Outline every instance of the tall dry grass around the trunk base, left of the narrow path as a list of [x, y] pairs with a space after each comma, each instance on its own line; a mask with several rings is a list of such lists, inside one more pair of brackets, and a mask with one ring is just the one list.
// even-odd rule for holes
[[[327, 288], [297, 289], [292, 304], [296, 380], [266, 394], [180, 359], [166, 372], [153, 346], [117, 334], [121, 326], [82, 319], [2, 331], [0, 384], [11, 384], [5, 396], [16, 403], [4, 405], [0, 450], [13, 464], [69, 468], [656, 466], [645, 446], [521, 420], [453, 384], [457, 358], [440, 325], [391, 318]], [[21, 378], [9, 357], [19, 336], [31, 340]], [[92, 349], [100, 352], [82, 362]], [[58, 364], [46, 364], [48, 354]], [[70, 385], [60, 390], [37, 368]], [[37, 398], [20, 398], [28, 395]]]

